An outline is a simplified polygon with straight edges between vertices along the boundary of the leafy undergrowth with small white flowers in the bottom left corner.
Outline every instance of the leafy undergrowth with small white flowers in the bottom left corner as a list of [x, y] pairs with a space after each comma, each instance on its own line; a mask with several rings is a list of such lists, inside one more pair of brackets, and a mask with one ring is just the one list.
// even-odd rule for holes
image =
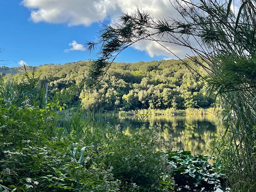
[[[53, 141], [35, 146], [32, 141], [19, 149], [3, 150], [1, 185], [16, 191], [117, 191], [111, 168], [100, 163], [96, 153], [81, 164], [69, 155], [69, 142]], [[88, 150], [87, 150], [88, 151]], [[100, 153], [101, 156], [108, 155]], [[107, 189], [107, 190], [106, 190]]]

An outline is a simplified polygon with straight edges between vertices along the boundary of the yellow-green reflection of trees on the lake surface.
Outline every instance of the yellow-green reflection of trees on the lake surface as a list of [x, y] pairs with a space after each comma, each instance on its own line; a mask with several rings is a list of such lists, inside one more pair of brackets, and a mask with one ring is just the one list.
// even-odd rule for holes
[[[213, 137], [223, 135], [224, 127], [215, 116], [187, 115], [187, 116], [148, 116], [144, 123], [147, 127], [160, 127], [159, 136], [164, 139], [172, 138], [175, 149], [182, 148], [192, 153], [209, 153], [209, 141]], [[140, 127], [136, 117], [118, 119], [123, 129]]]

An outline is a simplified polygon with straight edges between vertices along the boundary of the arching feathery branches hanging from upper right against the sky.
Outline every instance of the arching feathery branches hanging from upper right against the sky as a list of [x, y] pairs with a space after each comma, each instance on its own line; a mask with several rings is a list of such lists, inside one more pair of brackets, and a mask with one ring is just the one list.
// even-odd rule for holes
[[[188, 47], [198, 57], [186, 57], [202, 66], [208, 74], [217, 71], [223, 57], [236, 55], [237, 61], [252, 57], [255, 54], [255, 25], [248, 18], [254, 14], [251, 4], [249, 1], [249, 12], [240, 9], [237, 16], [231, 11], [230, 1], [223, 4], [215, 0], [200, 0], [198, 4], [185, 0], [170, 2], [179, 13], [179, 19], [168, 16], [155, 20], [139, 9], [132, 14], [125, 13], [115, 23], [103, 25], [97, 42], [86, 42], [89, 52], [99, 49], [91, 65], [92, 80], [100, 80], [116, 56], [140, 40], [153, 40], [170, 54], [173, 51], [167, 43]], [[189, 69], [192, 71], [191, 67]]]

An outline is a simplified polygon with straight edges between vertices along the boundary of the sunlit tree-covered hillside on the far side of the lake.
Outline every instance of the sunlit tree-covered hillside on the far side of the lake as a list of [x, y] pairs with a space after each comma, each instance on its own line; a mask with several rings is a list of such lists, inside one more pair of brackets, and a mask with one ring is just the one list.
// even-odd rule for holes
[[[192, 61], [187, 62], [205, 75]], [[212, 103], [204, 94], [202, 79], [193, 75], [180, 60], [114, 63], [92, 88], [87, 86], [89, 66], [89, 61], [46, 64], [36, 67], [34, 75], [46, 76], [49, 96], [58, 92], [62, 94], [60, 102], [69, 105], [81, 102], [86, 110], [184, 109], [207, 107]], [[16, 78], [20, 75], [16, 74]]]

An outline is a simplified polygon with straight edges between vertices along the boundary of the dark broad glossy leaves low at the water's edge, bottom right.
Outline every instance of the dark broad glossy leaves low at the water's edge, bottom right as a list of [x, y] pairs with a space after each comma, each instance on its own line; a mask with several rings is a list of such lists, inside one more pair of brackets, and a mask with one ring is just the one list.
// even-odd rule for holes
[[223, 174], [218, 169], [214, 169], [214, 164], [208, 162], [207, 155], [191, 155], [190, 151], [181, 149], [168, 153], [168, 159], [172, 162], [173, 177], [175, 184], [182, 191], [190, 190], [210, 190], [220, 186], [220, 180], [223, 181]]

